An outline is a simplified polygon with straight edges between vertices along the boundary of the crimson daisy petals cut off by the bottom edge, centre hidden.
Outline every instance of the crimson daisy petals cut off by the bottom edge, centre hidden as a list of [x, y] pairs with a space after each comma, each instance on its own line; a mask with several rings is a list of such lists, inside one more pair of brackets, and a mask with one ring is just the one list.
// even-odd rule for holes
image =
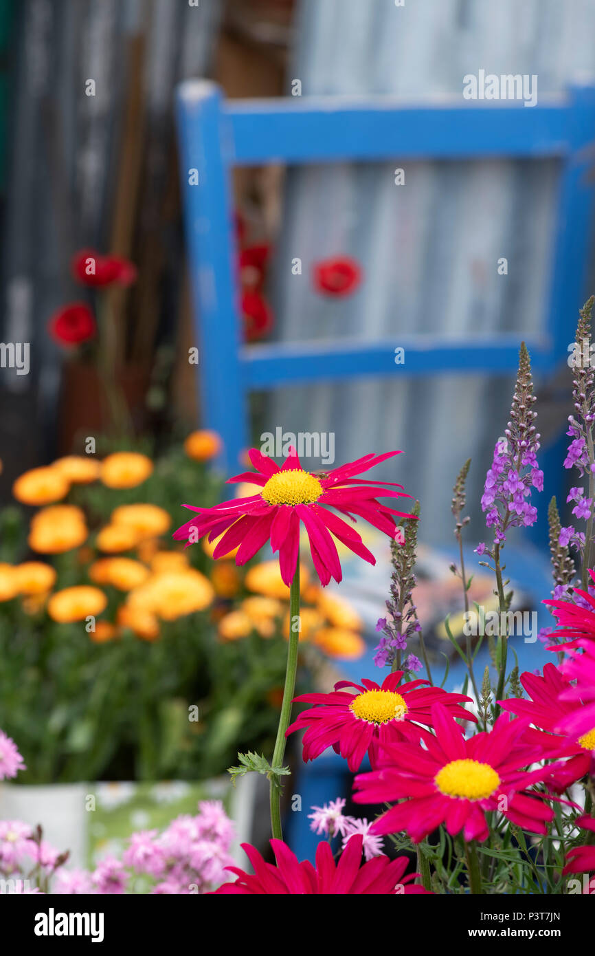
[[[316, 866], [308, 860], [298, 862], [283, 840], [271, 839], [270, 845], [277, 865], [266, 863], [258, 850], [249, 843], [242, 847], [252, 864], [254, 875], [244, 873], [236, 866], [228, 866], [238, 877], [234, 883], [223, 883], [215, 894], [243, 895], [368, 895], [381, 896], [393, 893], [423, 893], [428, 891], [419, 885], [411, 885], [417, 876], [404, 877], [409, 864], [407, 857], [375, 857], [361, 865], [362, 836], [352, 836], [338, 863], [332, 857], [329, 844], [322, 842], [316, 848]], [[407, 885], [407, 884], [410, 885]]]

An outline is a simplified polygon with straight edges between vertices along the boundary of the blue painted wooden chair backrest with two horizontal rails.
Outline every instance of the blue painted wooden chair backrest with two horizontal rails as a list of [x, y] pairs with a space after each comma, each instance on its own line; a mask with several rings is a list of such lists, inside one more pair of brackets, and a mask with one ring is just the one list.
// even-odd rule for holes
[[233, 166], [374, 163], [407, 159], [547, 159], [561, 163], [558, 220], [542, 331], [527, 338], [533, 367], [567, 356], [563, 316], [575, 316], [589, 251], [595, 159], [595, 89], [571, 87], [530, 107], [519, 100], [410, 104], [386, 97], [226, 101], [220, 88], [188, 80], [178, 89], [181, 181], [193, 310], [200, 352], [202, 419], [223, 438], [222, 464], [236, 467], [248, 443], [250, 391], [311, 381], [440, 373], [514, 373], [519, 337], [453, 340], [278, 342], [245, 345], [238, 309]]

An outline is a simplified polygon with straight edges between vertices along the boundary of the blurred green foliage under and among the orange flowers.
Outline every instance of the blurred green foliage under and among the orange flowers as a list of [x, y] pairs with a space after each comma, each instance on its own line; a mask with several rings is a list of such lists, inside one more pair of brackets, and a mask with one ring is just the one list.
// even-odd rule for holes
[[[120, 505], [158, 505], [169, 512], [174, 529], [187, 520], [183, 503], [208, 507], [221, 491], [216, 474], [174, 447], [138, 488], [74, 486], [68, 503], [85, 511], [93, 547], [96, 530]], [[81, 562], [78, 551], [28, 554], [27, 533], [24, 509], [0, 511], [0, 560], [53, 564], [56, 590], [91, 583], [89, 565], [100, 555]], [[168, 533], [159, 548], [171, 547]], [[186, 554], [194, 568], [210, 575], [213, 561], [201, 544]], [[108, 606], [101, 618], [115, 620], [125, 595], [111, 586], [103, 590]], [[228, 609], [218, 599], [215, 611]], [[57, 623], [45, 607], [27, 613], [20, 598], [0, 602], [0, 728], [18, 742], [27, 764], [18, 782], [221, 774], [238, 750], [272, 749], [279, 711], [270, 690], [283, 686], [286, 657], [280, 634], [267, 641], [256, 634], [221, 641], [211, 608], [161, 621], [158, 641], [122, 629], [117, 640], [95, 643], [84, 621]]]

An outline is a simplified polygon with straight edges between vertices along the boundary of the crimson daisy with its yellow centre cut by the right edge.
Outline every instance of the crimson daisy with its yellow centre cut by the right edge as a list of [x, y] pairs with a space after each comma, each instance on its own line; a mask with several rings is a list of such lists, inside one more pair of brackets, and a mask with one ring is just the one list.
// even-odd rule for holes
[[[518, 717], [527, 718], [539, 728], [527, 728], [527, 742], [541, 744], [548, 756], [570, 757], [556, 771], [555, 788], [562, 793], [586, 773], [595, 772], [595, 727], [578, 738], [558, 732], [564, 719], [576, 714], [582, 703], [560, 700], [564, 691], [573, 688], [553, 663], [545, 664], [543, 676], [528, 671], [521, 674], [521, 684], [530, 699], [511, 697], [499, 701], [499, 706]], [[543, 733], [544, 730], [547, 732]]]

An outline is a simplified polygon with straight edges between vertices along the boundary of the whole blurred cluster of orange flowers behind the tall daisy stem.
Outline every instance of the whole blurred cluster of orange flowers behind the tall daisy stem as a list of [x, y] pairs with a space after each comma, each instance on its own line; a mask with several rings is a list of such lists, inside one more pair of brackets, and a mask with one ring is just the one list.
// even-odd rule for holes
[[[211, 431], [193, 432], [184, 442], [186, 454], [200, 462], [215, 457], [220, 448], [219, 436]], [[237, 641], [253, 632], [271, 638], [280, 627], [287, 637], [289, 589], [278, 562], [255, 565], [244, 575], [233, 561], [236, 552], [231, 552], [213, 562], [209, 580], [190, 566], [185, 552], [160, 547], [159, 537], [170, 529], [171, 518], [152, 504], [117, 507], [109, 523], [96, 532], [94, 550], [88, 545], [84, 511], [58, 504], [73, 485], [100, 481], [110, 489], [131, 489], [152, 471], [153, 462], [146, 455], [119, 451], [103, 461], [74, 455], [60, 458], [21, 475], [12, 488], [14, 497], [39, 508], [31, 520], [30, 548], [37, 554], [78, 549], [80, 563], [88, 565], [90, 583], [53, 591], [56, 572], [50, 564], [0, 564], [0, 601], [20, 596], [27, 613], [47, 607], [53, 620], [69, 623], [101, 615], [108, 604], [103, 589], [116, 588], [123, 595], [116, 619], [96, 620], [95, 631], [89, 635], [102, 643], [116, 638], [122, 628], [144, 641], [156, 641], [161, 621], [202, 611], [219, 598], [213, 616], [221, 641]], [[204, 552], [212, 557], [216, 544], [205, 539]], [[129, 556], [131, 552], [136, 557]], [[250, 596], [228, 610], [229, 601], [241, 590]], [[362, 622], [351, 605], [311, 583], [308, 568], [303, 567], [300, 641], [314, 644], [329, 657], [355, 659], [365, 649], [361, 630]]]

